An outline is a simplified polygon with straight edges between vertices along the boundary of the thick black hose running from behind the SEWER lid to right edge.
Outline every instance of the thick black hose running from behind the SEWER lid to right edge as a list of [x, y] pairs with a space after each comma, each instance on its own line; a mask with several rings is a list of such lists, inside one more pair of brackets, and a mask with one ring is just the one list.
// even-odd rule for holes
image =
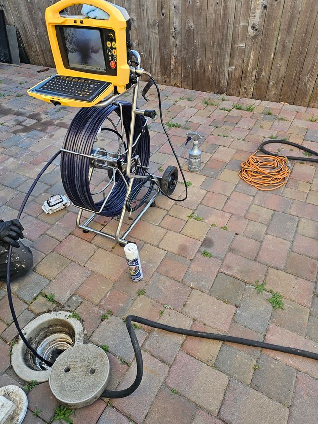
[[141, 383], [142, 376], [143, 376], [143, 360], [142, 360], [142, 354], [141, 354], [139, 342], [138, 342], [135, 330], [132, 326], [132, 322], [144, 324], [149, 327], [158, 328], [164, 331], [169, 331], [170, 333], [183, 334], [184, 336], [201, 337], [204, 339], [220, 340], [222, 342], [231, 342], [231, 343], [237, 343], [240, 345], [260, 347], [263, 349], [276, 350], [279, 352], [290, 353], [292, 355], [298, 355], [298, 356], [303, 356], [305, 358], [318, 360], [318, 353], [309, 352], [307, 350], [295, 349], [293, 347], [287, 347], [287, 346], [274, 345], [272, 343], [259, 342], [257, 340], [242, 339], [241, 337], [226, 336], [224, 334], [206, 333], [202, 331], [187, 330], [185, 328], [167, 326], [166, 324], [161, 324], [156, 321], [150, 321], [146, 318], [141, 318], [136, 315], [128, 315], [126, 318], [126, 327], [127, 327], [129, 337], [131, 339], [131, 344], [136, 356], [137, 375], [132, 385], [130, 385], [124, 390], [104, 390], [102, 393], [102, 396], [106, 398], [117, 399], [117, 398], [124, 398], [126, 396], [129, 396], [138, 388], [138, 386]]

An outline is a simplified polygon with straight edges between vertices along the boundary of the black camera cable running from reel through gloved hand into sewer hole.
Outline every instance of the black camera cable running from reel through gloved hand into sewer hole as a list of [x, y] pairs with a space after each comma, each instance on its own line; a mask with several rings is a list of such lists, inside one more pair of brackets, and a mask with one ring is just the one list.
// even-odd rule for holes
[[[26, 193], [24, 200], [22, 202], [22, 205], [20, 206], [19, 212], [18, 212], [18, 216], [17, 219], [19, 221], [19, 219], [21, 218], [23, 209], [26, 205], [26, 202], [28, 201], [33, 189], [35, 188], [37, 181], [41, 178], [41, 176], [43, 175], [43, 173], [45, 173], [45, 171], [48, 169], [48, 167], [51, 165], [51, 163], [56, 159], [56, 157], [61, 153], [61, 151], [59, 150], [58, 152], [56, 152], [56, 154], [54, 156], [51, 157], [51, 159], [45, 164], [45, 166], [42, 168], [42, 170], [39, 172], [39, 174], [37, 175], [37, 178], [33, 181], [31, 187], [28, 190], [28, 193]], [[13, 318], [13, 322], [18, 330], [18, 333], [21, 337], [21, 339], [23, 340], [23, 343], [25, 344], [25, 346], [40, 360], [43, 361], [45, 364], [52, 366], [53, 364], [50, 361], [47, 361], [46, 359], [42, 358], [42, 356], [40, 356], [37, 351], [30, 345], [30, 343], [27, 341], [27, 339], [25, 338], [23, 331], [21, 330], [19, 323], [18, 323], [18, 319], [17, 319], [17, 315], [16, 312], [14, 310], [14, 306], [13, 306], [13, 300], [12, 300], [12, 293], [11, 293], [11, 279], [10, 279], [10, 267], [11, 267], [11, 255], [12, 255], [12, 246], [10, 245], [9, 247], [9, 251], [8, 251], [8, 263], [7, 263], [7, 291], [8, 291], [8, 302], [9, 302], [9, 307], [10, 307], [10, 311], [11, 311], [11, 315]]]

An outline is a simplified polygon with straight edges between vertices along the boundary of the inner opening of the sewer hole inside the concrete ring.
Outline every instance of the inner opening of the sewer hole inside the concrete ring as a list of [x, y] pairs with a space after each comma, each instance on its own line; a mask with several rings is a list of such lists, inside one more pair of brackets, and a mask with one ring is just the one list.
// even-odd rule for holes
[[[64, 350], [74, 346], [75, 331], [66, 320], [55, 318], [52, 325], [46, 327], [39, 325], [36, 335], [30, 337], [28, 341], [42, 358], [55, 362]], [[36, 371], [51, 369], [50, 366], [39, 360], [26, 347], [24, 349], [24, 360], [29, 368]]]

